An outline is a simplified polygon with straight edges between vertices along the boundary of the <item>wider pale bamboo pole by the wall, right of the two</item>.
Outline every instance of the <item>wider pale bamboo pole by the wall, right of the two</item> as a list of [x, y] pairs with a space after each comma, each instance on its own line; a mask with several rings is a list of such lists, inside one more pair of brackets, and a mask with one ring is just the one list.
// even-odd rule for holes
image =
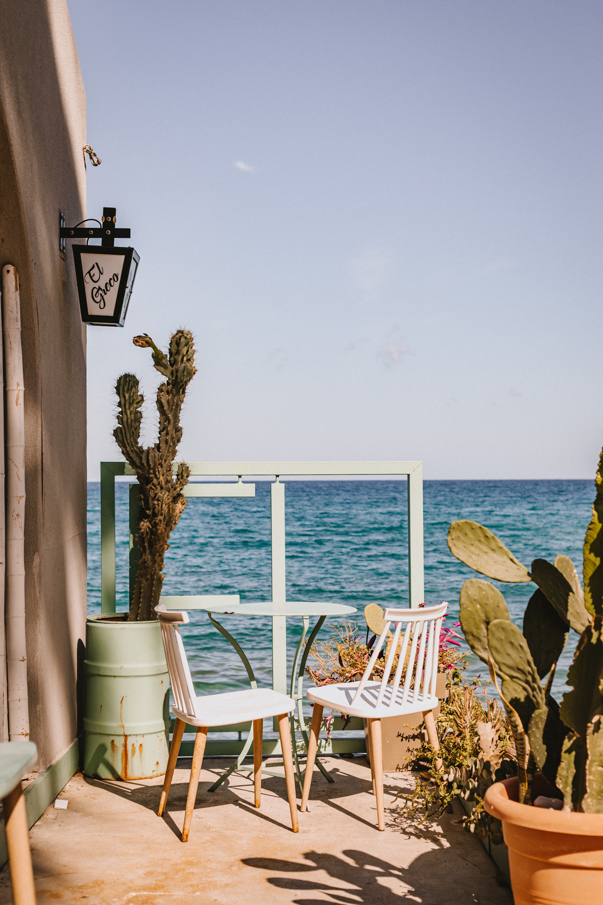
[[25, 647], [25, 422], [19, 277], [2, 269], [2, 315], [6, 378], [6, 676], [11, 741], [29, 738]]

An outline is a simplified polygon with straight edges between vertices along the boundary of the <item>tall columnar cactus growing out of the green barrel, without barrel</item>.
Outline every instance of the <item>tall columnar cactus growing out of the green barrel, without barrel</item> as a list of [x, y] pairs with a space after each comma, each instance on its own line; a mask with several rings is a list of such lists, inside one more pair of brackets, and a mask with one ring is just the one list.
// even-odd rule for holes
[[113, 436], [136, 472], [140, 494], [137, 534], [140, 560], [130, 600], [130, 621], [156, 618], [155, 606], [159, 603], [165, 577], [162, 574], [165, 550], [170, 546], [170, 533], [186, 506], [182, 490], [190, 472], [188, 466], [181, 462], [174, 474], [173, 463], [182, 439], [180, 412], [184, 394], [196, 371], [193, 335], [188, 330], [176, 330], [170, 339], [167, 355], [146, 334], [135, 337], [134, 345], [153, 350], [155, 370], [165, 376], [165, 383], [157, 388], [158, 440], [146, 449], [139, 443], [141, 408], [145, 400], [138, 392], [137, 377], [122, 374], [115, 388], [118, 395], [118, 426]]

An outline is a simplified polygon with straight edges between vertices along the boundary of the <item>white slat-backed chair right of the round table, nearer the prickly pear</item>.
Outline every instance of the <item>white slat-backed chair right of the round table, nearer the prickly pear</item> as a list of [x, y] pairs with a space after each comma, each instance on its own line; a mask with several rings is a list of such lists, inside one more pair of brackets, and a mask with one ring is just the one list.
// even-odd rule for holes
[[[351, 717], [363, 717], [368, 721], [372, 791], [377, 798], [379, 829], [385, 829], [381, 721], [387, 717], [399, 717], [419, 711], [425, 719], [429, 743], [436, 750], [439, 749], [433, 710], [439, 703], [436, 697], [439, 633], [447, 609], [448, 604], [445, 603], [410, 610], [386, 609], [385, 627], [372, 650], [363, 678], [360, 681], [319, 685], [307, 690], [308, 699], [314, 703], [314, 711], [307, 750], [302, 811], [306, 810], [310, 795], [318, 733], [326, 707]], [[395, 622], [395, 631], [391, 643], [388, 643], [392, 622]], [[404, 633], [400, 639], [403, 626]], [[371, 681], [372, 669], [386, 643], [382, 681]], [[390, 683], [391, 667], [397, 652], [400, 654], [398, 665]]]

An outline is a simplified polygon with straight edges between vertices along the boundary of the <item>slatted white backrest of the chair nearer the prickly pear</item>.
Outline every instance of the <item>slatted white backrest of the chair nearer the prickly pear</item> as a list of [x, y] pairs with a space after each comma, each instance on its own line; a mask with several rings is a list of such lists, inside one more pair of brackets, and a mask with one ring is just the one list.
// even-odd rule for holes
[[[395, 630], [385, 658], [383, 678], [375, 706], [378, 707], [382, 703], [385, 691], [390, 684], [391, 665], [396, 653], [399, 654], [398, 665], [394, 673], [388, 704], [391, 705], [392, 701], [397, 704], [406, 704], [410, 691], [413, 691], [413, 700], [417, 700], [419, 690], [423, 692], [423, 700], [434, 697], [438, 676], [439, 633], [447, 609], [448, 604], [443, 601], [438, 606], [421, 606], [404, 610], [386, 609], [385, 627], [372, 649], [371, 659], [353, 696], [352, 704], [360, 698], [367, 681], [371, 678], [372, 670], [383, 645], [388, 642], [387, 636], [392, 622], [395, 624]], [[405, 628], [400, 643], [402, 626]], [[398, 690], [402, 682], [402, 674], [404, 684], [400, 698]]]

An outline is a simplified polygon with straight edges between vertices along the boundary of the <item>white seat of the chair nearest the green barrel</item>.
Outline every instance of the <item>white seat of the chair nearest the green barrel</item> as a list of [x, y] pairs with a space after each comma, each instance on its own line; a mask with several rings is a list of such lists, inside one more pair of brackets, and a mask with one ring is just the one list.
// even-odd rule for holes
[[296, 703], [286, 694], [271, 688], [250, 688], [243, 691], [227, 691], [221, 694], [204, 694], [195, 698], [195, 716], [183, 710], [174, 714], [190, 726], [228, 726], [231, 723], [247, 723], [251, 719], [278, 717], [295, 710]]

